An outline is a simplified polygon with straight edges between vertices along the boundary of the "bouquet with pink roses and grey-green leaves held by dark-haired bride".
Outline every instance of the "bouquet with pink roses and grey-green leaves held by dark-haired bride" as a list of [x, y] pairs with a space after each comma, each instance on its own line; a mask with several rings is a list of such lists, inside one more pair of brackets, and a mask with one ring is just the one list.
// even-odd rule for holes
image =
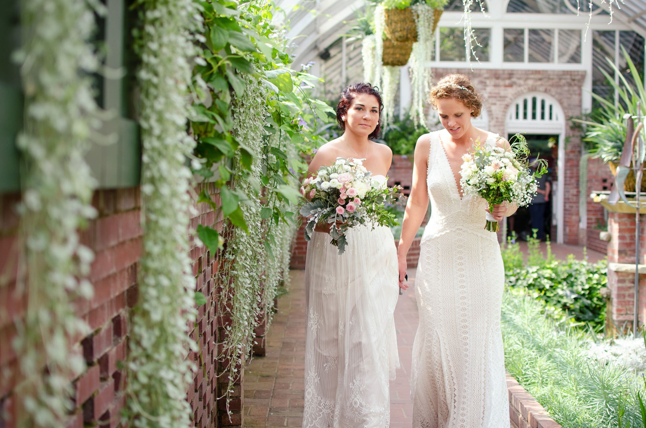
[[[381, 176], [377, 176], [381, 177]], [[361, 224], [396, 226], [395, 215], [386, 209], [386, 202], [402, 197], [401, 187], [388, 187], [386, 178], [372, 177], [361, 160], [337, 158], [332, 166], [322, 166], [317, 175], [307, 177], [300, 187], [306, 198], [300, 215], [309, 217], [305, 239], [309, 241], [317, 224], [331, 224], [331, 244], [344, 253], [345, 231]]]

